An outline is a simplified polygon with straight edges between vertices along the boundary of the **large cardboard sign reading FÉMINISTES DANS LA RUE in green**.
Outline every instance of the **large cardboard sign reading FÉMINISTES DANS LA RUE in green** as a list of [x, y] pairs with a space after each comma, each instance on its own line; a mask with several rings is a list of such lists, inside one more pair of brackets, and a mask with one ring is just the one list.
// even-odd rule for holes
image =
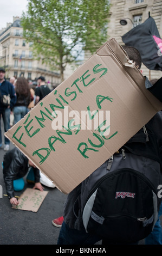
[[113, 38], [5, 136], [69, 193], [160, 109]]

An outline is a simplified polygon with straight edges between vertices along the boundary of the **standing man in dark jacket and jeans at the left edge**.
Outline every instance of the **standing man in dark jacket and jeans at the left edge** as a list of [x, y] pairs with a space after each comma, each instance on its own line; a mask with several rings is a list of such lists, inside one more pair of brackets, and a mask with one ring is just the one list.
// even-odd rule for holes
[[[5, 80], [5, 69], [0, 68], [0, 98], [2, 99], [3, 95], [10, 96], [10, 105], [5, 106], [0, 99], [0, 123], [1, 117], [4, 123], [4, 131], [7, 132], [10, 129], [10, 112], [16, 103], [16, 93], [14, 86]], [[10, 141], [7, 137], [4, 137], [4, 150], [9, 150]], [[2, 132], [1, 132], [1, 124], [0, 124], [0, 148], [2, 147]]]

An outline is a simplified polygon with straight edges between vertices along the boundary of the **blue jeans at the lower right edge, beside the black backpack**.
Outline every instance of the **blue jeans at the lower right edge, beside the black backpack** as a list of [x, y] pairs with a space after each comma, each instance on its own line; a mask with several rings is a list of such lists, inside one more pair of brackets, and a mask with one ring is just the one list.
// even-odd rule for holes
[[154, 225], [151, 234], [145, 239], [145, 245], [162, 245], [162, 230], [159, 217], [162, 215], [162, 203], [158, 212], [158, 220]]

